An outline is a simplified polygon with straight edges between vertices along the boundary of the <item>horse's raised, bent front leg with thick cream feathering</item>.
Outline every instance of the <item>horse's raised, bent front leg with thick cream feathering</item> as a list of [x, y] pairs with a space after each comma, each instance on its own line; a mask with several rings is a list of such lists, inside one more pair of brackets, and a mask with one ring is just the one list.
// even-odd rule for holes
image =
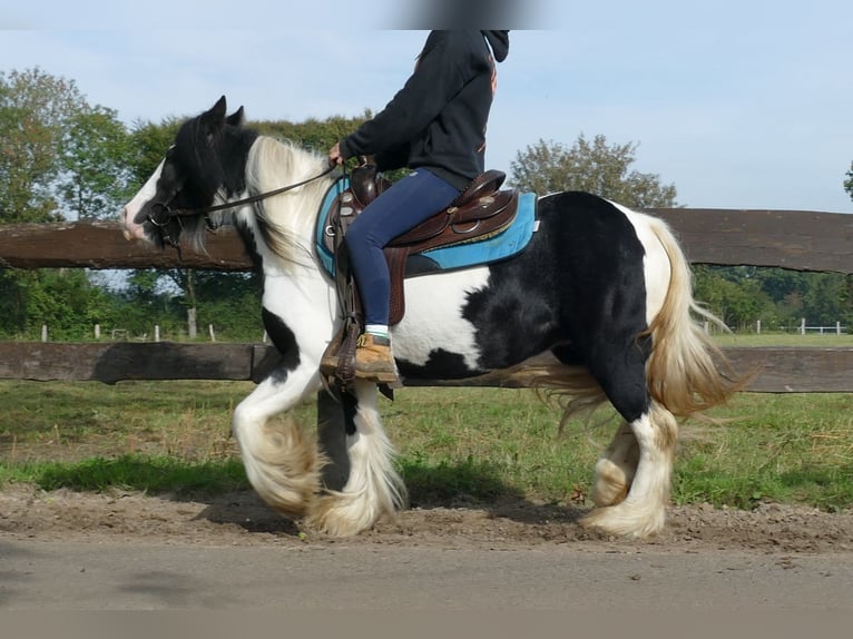
[[284, 413], [317, 385], [316, 371], [307, 366], [274, 371], [234, 411], [232, 429], [249, 483], [267, 504], [290, 518], [311, 512], [324, 459], [313, 433]]

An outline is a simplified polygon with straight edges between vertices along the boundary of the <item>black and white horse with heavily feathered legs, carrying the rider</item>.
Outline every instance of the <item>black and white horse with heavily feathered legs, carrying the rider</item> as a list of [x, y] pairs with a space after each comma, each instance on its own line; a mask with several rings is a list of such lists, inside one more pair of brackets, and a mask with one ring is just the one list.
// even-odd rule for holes
[[[257, 494], [284, 517], [354, 535], [408, 503], [376, 384], [342, 394], [350, 472], [340, 490], [303, 427], [276, 419], [322, 396], [320, 362], [341, 328], [335, 282], [315, 243], [321, 203], [341, 169], [228, 115], [223, 96], [187, 119], [151, 177], [120, 213], [128, 239], [204, 246], [233, 224], [263, 274], [261, 316], [281, 362], [234, 410], [232, 429]], [[331, 170], [331, 173], [330, 173]], [[290, 185], [290, 187], [283, 187]], [[391, 342], [403, 387], [530, 372], [566, 396], [565, 419], [609, 402], [620, 416], [595, 464], [595, 505], [580, 524], [647, 538], [664, 529], [679, 422], [738, 390], [703, 323], [688, 263], [659, 218], [588, 193], [538, 197], [537, 229], [518, 254], [405, 279], [408, 307]]]

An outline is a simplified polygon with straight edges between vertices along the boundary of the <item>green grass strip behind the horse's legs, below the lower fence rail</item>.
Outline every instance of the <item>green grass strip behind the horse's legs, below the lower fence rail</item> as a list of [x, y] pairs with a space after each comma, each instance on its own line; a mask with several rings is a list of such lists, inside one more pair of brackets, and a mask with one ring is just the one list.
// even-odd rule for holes
[[[247, 488], [231, 413], [235, 382], [0, 382], [0, 484], [149, 493]], [[586, 503], [616, 421], [572, 421], [533, 392], [404, 389], [381, 401], [399, 468], [419, 504], [527, 498]], [[312, 427], [313, 406], [296, 411]], [[719, 424], [682, 429], [673, 499], [752, 508], [853, 505], [853, 394], [738, 394]]]

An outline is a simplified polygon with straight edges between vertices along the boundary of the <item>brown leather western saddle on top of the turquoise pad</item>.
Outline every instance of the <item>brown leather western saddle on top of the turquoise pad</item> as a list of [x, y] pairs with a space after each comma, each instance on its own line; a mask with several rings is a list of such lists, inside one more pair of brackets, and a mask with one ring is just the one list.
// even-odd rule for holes
[[[392, 239], [385, 246], [385, 259], [391, 274], [391, 306], [389, 324], [399, 323], [405, 313], [403, 281], [405, 266], [411, 255], [424, 250], [452, 246], [455, 244], [486, 239], [504, 230], [516, 218], [518, 212], [518, 191], [500, 190], [506, 175], [498, 170], [488, 170], [475, 178], [453, 204], [439, 212], [414, 228]], [[345, 291], [342, 277], [346, 277], [345, 264], [340, 254], [346, 228], [362, 210], [386, 188], [391, 186], [381, 177], [375, 165], [364, 164], [354, 168], [350, 175], [350, 188], [337, 196], [329, 215], [324, 243], [335, 255], [335, 278], [339, 283], [339, 297], [352, 295], [354, 306], [360, 309], [357, 291]], [[351, 278], [350, 278], [351, 279]], [[352, 285], [354, 288], [354, 285]], [[342, 307], [346, 308], [344, 299]]]

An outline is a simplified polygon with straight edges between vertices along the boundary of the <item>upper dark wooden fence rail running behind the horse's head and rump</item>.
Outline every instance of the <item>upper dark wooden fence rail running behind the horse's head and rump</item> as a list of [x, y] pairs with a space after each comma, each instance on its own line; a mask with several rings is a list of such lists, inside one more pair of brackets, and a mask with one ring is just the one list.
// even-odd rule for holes
[[[658, 208], [693, 263], [853, 273], [853, 215], [808, 210]], [[237, 235], [210, 234], [207, 252], [153, 250], [125, 242], [118, 223], [0, 226], [0, 268], [252, 267]]]

